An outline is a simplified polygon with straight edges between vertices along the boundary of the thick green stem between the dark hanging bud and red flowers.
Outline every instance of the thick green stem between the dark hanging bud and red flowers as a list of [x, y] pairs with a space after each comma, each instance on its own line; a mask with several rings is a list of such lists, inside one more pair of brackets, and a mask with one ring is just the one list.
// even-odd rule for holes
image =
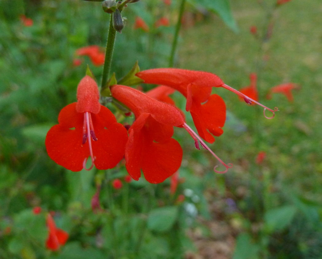
[[105, 86], [111, 70], [112, 57], [115, 45], [116, 30], [113, 28], [113, 14], [109, 21], [109, 35], [107, 37], [105, 61], [102, 75], [101, 89]]

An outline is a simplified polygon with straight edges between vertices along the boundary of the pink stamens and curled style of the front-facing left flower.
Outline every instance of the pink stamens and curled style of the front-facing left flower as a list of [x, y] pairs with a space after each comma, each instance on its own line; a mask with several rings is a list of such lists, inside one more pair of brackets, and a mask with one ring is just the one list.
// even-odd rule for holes
[[90, 158], [92, 160], [92, 164], [90, 165], [90, 168], [86, 168], [86, 162], [87, 162], [88, 158], [85, 158], [84, 162], [83, 162], [83, 168], [85, 170], [87, 170], [87, 171], [90, 171], [94, 166], [94, 161], [95, 161], [95, 158], [96, 158], [93, 155], [93, 148], [92, 148], [91, 138], [93, 138], [94, 141], [97, 141], [97, 138], [96, 138], [95, 133], [94, 133], [92, 117], [90, 116], [89, 112], [84, 113], [83, 133], [84, 133], [83, 134], [83, 144], [86, 143], [86, 139], [88, 139], [88, 146], [90, 148]]

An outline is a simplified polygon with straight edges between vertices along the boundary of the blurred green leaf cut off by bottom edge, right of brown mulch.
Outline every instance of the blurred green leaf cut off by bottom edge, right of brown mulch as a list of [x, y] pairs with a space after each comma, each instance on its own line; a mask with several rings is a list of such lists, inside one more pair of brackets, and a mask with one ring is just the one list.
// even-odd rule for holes
[[236, 240], [236, 247], [233, 259], [256, 259], [259, 258], [258, 252], [260, 247], [251, 241], [251, 236], [248, 233], [241, 233]]

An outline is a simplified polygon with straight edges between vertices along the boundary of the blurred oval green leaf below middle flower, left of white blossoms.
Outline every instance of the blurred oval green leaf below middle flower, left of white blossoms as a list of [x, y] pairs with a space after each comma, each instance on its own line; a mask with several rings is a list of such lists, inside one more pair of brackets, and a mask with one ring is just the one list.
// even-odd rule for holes
[[178, 217], [177, 207], [162, 207], [152, 210], [147, 218], [147, 227], [157, 232], [171, 229]]

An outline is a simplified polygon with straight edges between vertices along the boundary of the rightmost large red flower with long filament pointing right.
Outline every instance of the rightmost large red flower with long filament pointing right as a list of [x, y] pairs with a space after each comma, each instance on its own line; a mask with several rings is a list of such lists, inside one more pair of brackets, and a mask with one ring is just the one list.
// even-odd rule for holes
[[[213, 87], [226, 88], [240, 97], [248, 104], [256, 103], [264, 107], [264, 116], [273, 118], [275, 111], [263, 106], [256, 100], [246, 96], [236, 89], [226, 85], [217, 75], [187, 69], [160, 68], [140, 71], [137, 77], [148, 84], [161, 84], [178, 90], [186, 99], [186, 111], [190, 111], [198, 134], [207, 142], [213, 143], [214, 136], [223, 133], [222, 127], [226, 120], [226, 106], [223, 99], [211, 94]], [[267, 117], [265, 111], [269, 110], [273, 116]]]

